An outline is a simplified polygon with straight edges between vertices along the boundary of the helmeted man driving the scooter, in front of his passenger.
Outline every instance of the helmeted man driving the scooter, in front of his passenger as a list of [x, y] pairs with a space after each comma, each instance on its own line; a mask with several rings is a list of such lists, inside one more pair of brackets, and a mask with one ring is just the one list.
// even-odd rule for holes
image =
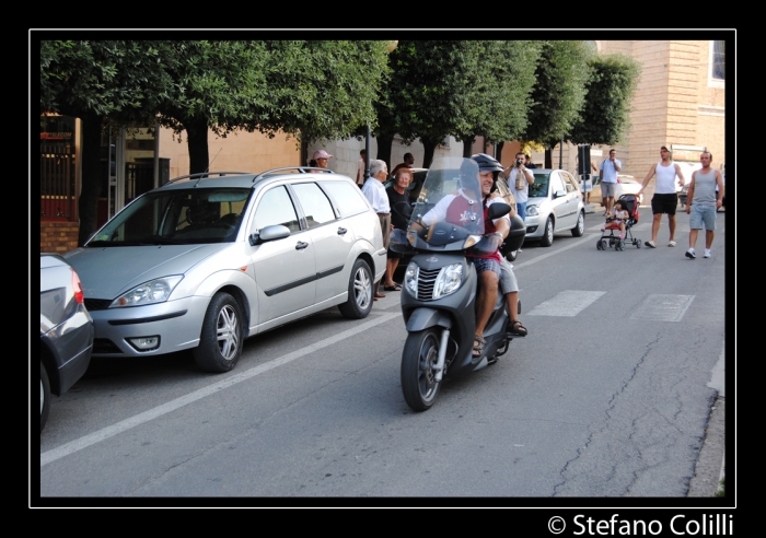
[[[480, 154], [481, 155], [481, 154]], [[486, 157], [495, 161], [492, 167], [488, 166], [488, 161]], [[427, 226], [439, 222], [446, 221], [460, 226], [466, 226], [466, 222], [479, 218], [474, 215], [476, 209], [474, 206], [477, 200], [483, 200], [483, 213], [481, 219], [486, 220], [487, 208], [496, 202], [503, 202], [502, 197], [498, 192], [492, 192], [496, 186], [497, 174], [502, 171], [502, 166], [495, 159], [489, 155], [485, 155], [479, 161], [474, 159], [477, 164], [479, 164], [478, 182], [474, 176], [466, 174], [465, 169], [461, 169], [461, 186], [462, 188], [454, 194], [450, 194], [442, 198], [439, 203], [437, 203], [433, 209], [427, 212], [421, 222]], [[464, 167], [465, 168], [465, 167]], [[472, 167], [473, 171], [476, 168]], [[468, 169], [472, 169], [468, 168]], [[497, 168], [497, 169], [495, 169]], [[472, 255], [466, 254], [466, 258], [476, 268], [476, 274], [478, 277], [479, 289], [477, 293], [477, 312], [476, 312], [476, 331], [474, 336], [474, 356], [478, 356], [484, 351], [484, 344], [486, 343], [484, 339], [484, 329], [489, 321], [489, 317], [492, 314], [495, 304], [497, 303], [498, 295], [498, 284], [500, 277], [502, 274], [500, 256], [500, 245], [502, 245], [503, 238], [508, 235], [511, 229], [511, 221], [508, 215], [503, 215], [494, 221], [488, 221], [484, 225], [484, 232], [487, 236], [494, 236], [496, 248], [492, 254], [489, 255]]]

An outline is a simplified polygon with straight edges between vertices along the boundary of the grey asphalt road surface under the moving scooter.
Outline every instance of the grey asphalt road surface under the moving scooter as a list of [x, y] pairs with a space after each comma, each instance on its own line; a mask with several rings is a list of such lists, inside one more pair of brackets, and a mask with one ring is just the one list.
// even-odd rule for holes
[[[685, 213], [675, 248], [663, 221], [655, 249], [596, 250], [594, 214], [584, 237], [524, 245], [514, 270], [530, 336], [496, 365], [444, 383], [423, 413], [402, 397], [396, 292], [363, 320], [328, 309], [256, 336], [228, 374], [199, 372], [189, 353], [95, 360], [53, 402], [33, 505], [549, 506], [715, 494], [706, 487], [720, 476], [724, 438], [718, 219], [710, 259], [684, 257]], [[642, 208], [636, 236], [648, 239], [650, 223]]]

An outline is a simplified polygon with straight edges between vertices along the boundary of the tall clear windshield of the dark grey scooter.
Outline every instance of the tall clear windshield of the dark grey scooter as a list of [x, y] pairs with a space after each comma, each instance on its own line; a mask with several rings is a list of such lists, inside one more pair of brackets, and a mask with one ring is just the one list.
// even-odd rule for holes
[[[481, 235], [483, 215], [479, 168], [476, 162], [464, 157], [443, 157], [434, 160], [428, 171], [413, 207], [409, 230], [427, 231], [449, 224], [449, 227], [463, 229], [460, 232], [466, 235]], [[431, 236], [429, 234], [429, 238]]]

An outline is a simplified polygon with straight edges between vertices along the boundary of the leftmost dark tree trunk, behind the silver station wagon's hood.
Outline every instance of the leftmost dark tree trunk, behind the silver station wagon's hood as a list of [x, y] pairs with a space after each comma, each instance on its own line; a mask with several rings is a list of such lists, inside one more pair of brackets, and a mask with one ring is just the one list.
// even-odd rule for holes
[[80, 231], [78, 246], [96, 231], [98, 222], [98, 198], [104, 178], [101, 177], [101, 124], [96, 115], [80, 116], [82, 120], [82, 184], [78, 209]]

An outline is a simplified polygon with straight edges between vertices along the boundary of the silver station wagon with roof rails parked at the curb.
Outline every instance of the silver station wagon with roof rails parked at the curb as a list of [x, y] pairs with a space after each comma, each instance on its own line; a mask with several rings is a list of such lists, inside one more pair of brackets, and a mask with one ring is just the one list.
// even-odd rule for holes
[[380, 220], [349, 177], [316, 168], [178, 177], [66, 255], [95, 324], [93, 356], [192, 349], [227, 372], [243, 340], [337, 305], [372, 308]]

